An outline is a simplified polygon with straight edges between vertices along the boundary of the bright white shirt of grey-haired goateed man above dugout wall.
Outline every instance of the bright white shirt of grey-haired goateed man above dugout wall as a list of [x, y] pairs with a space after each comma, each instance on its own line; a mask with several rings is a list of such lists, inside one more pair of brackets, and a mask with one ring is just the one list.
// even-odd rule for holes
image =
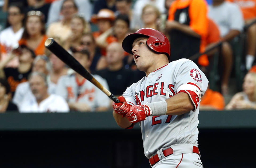
[[19, 109], [21, 113], [69, 112], [69, 105], [61, 96], [51, 94], [39, 104], [35, 97], [25, 99]]

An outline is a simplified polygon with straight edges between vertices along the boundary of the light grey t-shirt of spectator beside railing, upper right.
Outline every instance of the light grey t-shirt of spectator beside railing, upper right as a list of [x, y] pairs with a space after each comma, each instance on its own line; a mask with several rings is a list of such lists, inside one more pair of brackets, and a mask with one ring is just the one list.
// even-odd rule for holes
[[227, 35], [230, 30], [243, 30], [243, 15], [235, 3], [224, 1], [219, 6], [209, 5], [208, 16], [218, 25], [221, 37]]

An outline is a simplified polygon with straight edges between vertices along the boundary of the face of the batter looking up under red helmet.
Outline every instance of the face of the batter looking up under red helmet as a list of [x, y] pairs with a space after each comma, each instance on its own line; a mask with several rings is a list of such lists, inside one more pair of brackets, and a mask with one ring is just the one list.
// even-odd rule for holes
[[139, 37], [133, 42], [133, 59], [140, 71], [147, 70], [157, 62], [156, 54], [147, 47], [147, 37]]

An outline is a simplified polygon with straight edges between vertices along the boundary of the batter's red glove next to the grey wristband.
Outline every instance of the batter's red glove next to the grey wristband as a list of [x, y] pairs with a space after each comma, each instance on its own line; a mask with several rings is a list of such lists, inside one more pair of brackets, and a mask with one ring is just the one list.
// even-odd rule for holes
[[152, 114], [152, 111], [148, 105], [135, 105], [130, 107], [130, 111], [125, 115], [125, 117], [131, 123], [137, 123], [139, 121], [146, 120], [146, 117], [150, 116], [150, 114]]

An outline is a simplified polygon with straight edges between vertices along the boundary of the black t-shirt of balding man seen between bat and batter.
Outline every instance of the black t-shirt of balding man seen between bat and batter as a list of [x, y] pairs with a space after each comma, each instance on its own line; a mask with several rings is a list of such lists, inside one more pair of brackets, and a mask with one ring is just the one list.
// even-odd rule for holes
[[137, 82], [134, 78], [135, 72], [125, 68], [122, 68], [118, 71], [103, 69], [95, 72], [95, 74], [98, 74], [107, 80], [109, 90], [114, 95], [122, 95], [127, 87]]

